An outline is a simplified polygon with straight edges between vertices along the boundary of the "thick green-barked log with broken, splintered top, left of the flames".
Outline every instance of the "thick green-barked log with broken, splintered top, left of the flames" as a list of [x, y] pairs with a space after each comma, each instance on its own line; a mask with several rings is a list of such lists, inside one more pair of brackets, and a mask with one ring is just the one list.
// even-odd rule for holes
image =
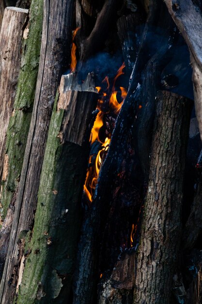
[[[89, 155], [88, 125], [97, 93], [95, 89], [91, 91], [91, 86], [83, 92], [66, 91], [65, 77], [62, 76], [50, 122], [34, 231], [26, 236], [30, 254], [24, 253], [25, 269], [17, 303], [33, 303], [37, 282], [41, 282], [45, 303], [52, 303], [53, 299], [57, 303], [70, 301]], [[75, 138], [75, 134], [79, 137]], [[54, 281], [50, 281], [53, 276]]]

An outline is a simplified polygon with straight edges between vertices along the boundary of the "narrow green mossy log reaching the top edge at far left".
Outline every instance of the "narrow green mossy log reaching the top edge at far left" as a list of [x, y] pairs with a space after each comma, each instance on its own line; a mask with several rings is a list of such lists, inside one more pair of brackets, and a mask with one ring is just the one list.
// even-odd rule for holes
[[6, 136], [4, 175], [0, 192], [1, 217], [4, 220], [0, 231], [0, 278], [8, 249], [8, 241], [14, 218], [17, 189], [23, 164], [27, 135], [30, 128], [36, 80], [38, 74], [43, 1], [32, 0], [29, 21], [24, 25], [22, 58], [13, 115]]

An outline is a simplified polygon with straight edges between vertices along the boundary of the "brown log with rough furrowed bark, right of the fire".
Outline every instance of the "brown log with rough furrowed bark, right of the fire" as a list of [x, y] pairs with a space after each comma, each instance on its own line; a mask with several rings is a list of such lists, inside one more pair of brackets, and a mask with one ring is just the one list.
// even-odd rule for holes
[[[158, 93], [134, 304], [171, 303], [178, 272], [190, 112], [189, 100], [168, 91]], [[183, 299], [179, 296], [179, 300]]]

